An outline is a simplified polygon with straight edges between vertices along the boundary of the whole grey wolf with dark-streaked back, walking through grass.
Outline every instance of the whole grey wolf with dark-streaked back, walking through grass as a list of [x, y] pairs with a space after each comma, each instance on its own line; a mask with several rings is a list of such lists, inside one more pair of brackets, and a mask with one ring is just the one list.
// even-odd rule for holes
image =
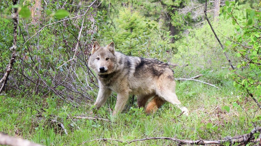
[[102, 107], [112, 92], [116, 92], [113, 116], [122, 112], [129, 95], [137, 95], [138, 107], [143, 107], [147, 114], [155, 112], [167, 101], [188, 115], [187, 108], [182, 107], [177, 98], [173, 71], [167, 63], [126, 56], [115, 51], [113, 42], [106, 47], [94, 42], [88, 66], [97, 74], [99, 82], [99, 92], [94, 103], [97, 109]]

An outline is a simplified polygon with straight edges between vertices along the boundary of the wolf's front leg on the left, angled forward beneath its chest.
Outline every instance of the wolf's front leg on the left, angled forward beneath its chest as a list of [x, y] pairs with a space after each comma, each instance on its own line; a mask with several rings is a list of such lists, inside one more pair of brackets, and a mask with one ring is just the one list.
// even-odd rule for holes
[[100, 85], [98, 96], [94, 103], [96, 108], [98, 109], [102, 107], [110, 95], [111, 95], [111, 90], [108, 88], [104, 88], [102, 85]]

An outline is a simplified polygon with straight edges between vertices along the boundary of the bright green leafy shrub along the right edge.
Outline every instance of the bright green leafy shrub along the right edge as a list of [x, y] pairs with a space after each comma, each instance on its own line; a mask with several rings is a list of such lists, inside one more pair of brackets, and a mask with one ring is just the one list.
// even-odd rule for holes
[[[261, 5], [261, 3], [259, 3]], [[260, 9], [260, 7], [257, 7]], [[237, 15], [242, 11], [235, 2], [226, 2], [223, 15], [232, 19], [235, 33], [226, 46], [235, 51], [240, 63], [231, 71], [234, 86], [256, 102], [261, 110], [261, 51], [260, 51], [260, 22], [261, 12], [256, 9], [245, 9], [244, 15]], [[257, 98], [257, 100], [255, 99]]]

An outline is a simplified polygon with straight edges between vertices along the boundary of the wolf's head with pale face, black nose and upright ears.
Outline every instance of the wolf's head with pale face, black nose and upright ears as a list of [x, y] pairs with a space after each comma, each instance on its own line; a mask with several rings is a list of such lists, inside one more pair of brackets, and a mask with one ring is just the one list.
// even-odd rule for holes
[[98, 42], [94, 42], [88, 65], [98, 75], [113, 73], [117, 67], [114, 43], [101, 47]]

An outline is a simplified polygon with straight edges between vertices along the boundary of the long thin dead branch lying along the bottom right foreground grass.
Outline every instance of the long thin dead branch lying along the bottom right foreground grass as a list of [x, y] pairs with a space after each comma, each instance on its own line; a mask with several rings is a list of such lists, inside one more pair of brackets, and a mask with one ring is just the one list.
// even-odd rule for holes
[[226, 142], [228, 142], [230, 144], [240, 143], [239, 145], [247, 144], [248, 142], [254, 142], [254, 143], [259, 142], [260, 143], [260, 138], [255, 139], [255, 137], [253, 136], [255, 133], [261, 133], [261, 127], [254, 128], [248, 134], [243, 134], [243, 135], [239, 135], [239, 136], [235, 136], [235, 137], [225, 137], [222, 140], [180, 140], [180, 139], [171, 138], [171, 137], [148, 137], [148, 138], [143, 138], [143, 139], [135, 139], [135, 140], [131, 140], [131, 141], [121, 141], [121, 140], [116, 140], [116, 139], [99, 138], [99, 139], [85, 141], [78, 145], [85, 144], [85, 143], [92, 142], [92, 141], [98, 141], [98, 140], [103, 140], [103, 141], [112, 140], [112, 141], [117, 141], [120, 143], [130, 144], [130, 143], [136, 142], [136, 141], [157, 140], [157, 139], [172, 140], [172, 141], [178, 142], [179, 143], [178, 145], [224, 144]]

